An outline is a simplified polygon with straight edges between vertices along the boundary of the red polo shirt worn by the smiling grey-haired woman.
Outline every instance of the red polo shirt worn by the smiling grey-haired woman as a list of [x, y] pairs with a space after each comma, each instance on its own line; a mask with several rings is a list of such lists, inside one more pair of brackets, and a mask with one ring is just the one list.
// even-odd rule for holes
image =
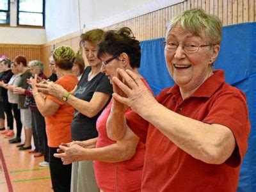
[[147, 138], [142, 191], [236, 191], [250, 132], [244, 93], [225, 83], [224, 72], [219, 70], [184, 100], [177, 84], [163, 90], [156, 99], [180, 115], [225, 125], [234, 134], [237, 147], [225, 163], [207, 164], [177, 147], [143, 118], [132, 125], [134, 122], [126, 115], [132, 131], [143, 141]]

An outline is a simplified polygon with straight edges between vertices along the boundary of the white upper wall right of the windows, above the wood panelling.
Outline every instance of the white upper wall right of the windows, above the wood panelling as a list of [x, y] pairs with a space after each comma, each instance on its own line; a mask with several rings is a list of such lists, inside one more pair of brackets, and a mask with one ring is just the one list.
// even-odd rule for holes
[[[111, 26], [118, 22], [180, 3], [183, 0], [45, 1], [45, 29], [48, 42], [75, 31], [88, 31], [90, 29]], [[78, 4], [80, 4], [80, 14]]]

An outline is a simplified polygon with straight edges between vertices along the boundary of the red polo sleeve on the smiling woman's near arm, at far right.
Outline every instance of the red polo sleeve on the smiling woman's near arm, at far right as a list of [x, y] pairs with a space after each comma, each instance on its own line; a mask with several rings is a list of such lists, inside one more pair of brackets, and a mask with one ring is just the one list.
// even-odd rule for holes
[[242, 93], [228, 93], [216, 100], [204, 118], [207, 124], [220, 124], [228, 127], [236, 139], [236, 149], [226, 163], [239, 166], [247, 150], [247, 140], [250, 132], [250, 121], [246, 99]]

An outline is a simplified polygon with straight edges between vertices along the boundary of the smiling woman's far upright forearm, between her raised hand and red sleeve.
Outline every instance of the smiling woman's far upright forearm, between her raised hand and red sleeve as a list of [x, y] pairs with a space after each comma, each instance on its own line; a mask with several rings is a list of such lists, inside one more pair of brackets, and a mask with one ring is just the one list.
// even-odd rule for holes
[[123, 113], [115, 112], [111, 109], [111, 113], [107, 120], [107, 133], [109, 139], [120, 141], [124, 138], [127, 131], [127, 124]]

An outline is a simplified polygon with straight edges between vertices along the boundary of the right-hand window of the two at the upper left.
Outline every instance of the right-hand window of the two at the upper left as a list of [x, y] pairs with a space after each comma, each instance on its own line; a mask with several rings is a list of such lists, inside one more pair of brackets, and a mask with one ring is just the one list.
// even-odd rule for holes
[[18, 25], [44, 26], [44, 0], [18, 0], [17, 5]]

